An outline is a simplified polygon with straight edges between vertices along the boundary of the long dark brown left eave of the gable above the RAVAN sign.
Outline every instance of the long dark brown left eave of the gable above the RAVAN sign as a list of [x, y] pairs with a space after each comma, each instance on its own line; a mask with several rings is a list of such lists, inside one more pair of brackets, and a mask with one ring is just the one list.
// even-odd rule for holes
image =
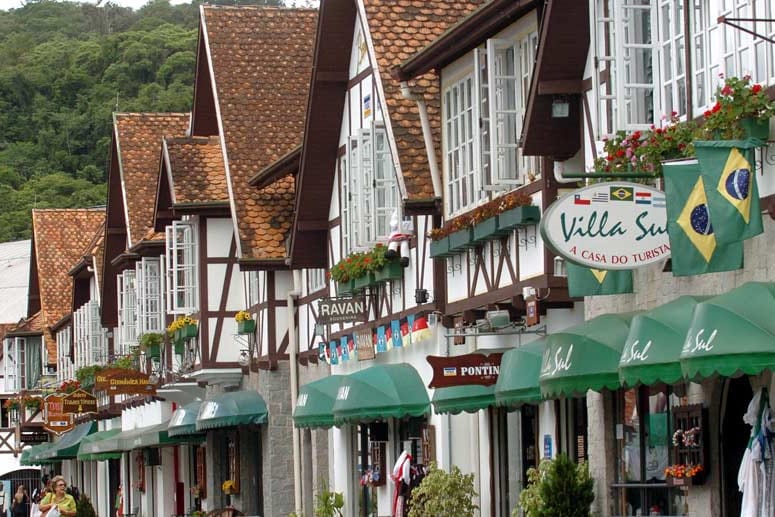
[[294, 268], [326, 267], [327, 253], [321, 250], [328, 249], [328, 214], [347, 91], [355, 4], [353, 0], [327, 0], [320, 6], [288, 253]]

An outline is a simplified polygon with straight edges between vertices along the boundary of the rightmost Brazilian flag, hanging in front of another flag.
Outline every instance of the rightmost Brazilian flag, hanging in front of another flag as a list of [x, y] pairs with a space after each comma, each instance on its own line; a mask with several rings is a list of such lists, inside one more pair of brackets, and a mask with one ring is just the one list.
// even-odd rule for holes
[[716, 244], [762, 233], [754, 145], [746, 141], [695, 141]]

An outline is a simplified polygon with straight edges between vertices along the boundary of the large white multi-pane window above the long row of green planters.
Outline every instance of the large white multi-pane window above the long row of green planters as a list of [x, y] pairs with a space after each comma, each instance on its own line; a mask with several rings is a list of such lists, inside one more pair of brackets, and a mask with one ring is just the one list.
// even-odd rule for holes
[[537, 161], [522, 156], [519, 138], [538, 44], [490, 39], [474, 51], [473, 68], [446, 82], [442, 98], [447, 212], [467, 211], [486, 198], [532, 180]]

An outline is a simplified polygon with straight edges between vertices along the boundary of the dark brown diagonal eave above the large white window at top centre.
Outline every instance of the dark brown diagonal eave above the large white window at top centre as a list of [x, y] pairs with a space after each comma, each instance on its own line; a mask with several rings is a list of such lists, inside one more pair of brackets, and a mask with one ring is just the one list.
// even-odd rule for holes
[[401, 65], [394, 67], [390, 75], [397, 81], [408, 81], [434, 68], [443, 68], [542, 3], [536, 0], [493, 0], [447, 29], [433, 43]]

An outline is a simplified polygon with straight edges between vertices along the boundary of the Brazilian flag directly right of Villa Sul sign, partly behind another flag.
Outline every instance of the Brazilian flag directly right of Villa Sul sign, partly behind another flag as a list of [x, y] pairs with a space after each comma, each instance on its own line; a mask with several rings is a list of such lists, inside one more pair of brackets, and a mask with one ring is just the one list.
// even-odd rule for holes
[[664, 162], [662, 171], [673, 275], [701, 275], [743, 267], [742, 242], [716, 242], [699, 162]]

